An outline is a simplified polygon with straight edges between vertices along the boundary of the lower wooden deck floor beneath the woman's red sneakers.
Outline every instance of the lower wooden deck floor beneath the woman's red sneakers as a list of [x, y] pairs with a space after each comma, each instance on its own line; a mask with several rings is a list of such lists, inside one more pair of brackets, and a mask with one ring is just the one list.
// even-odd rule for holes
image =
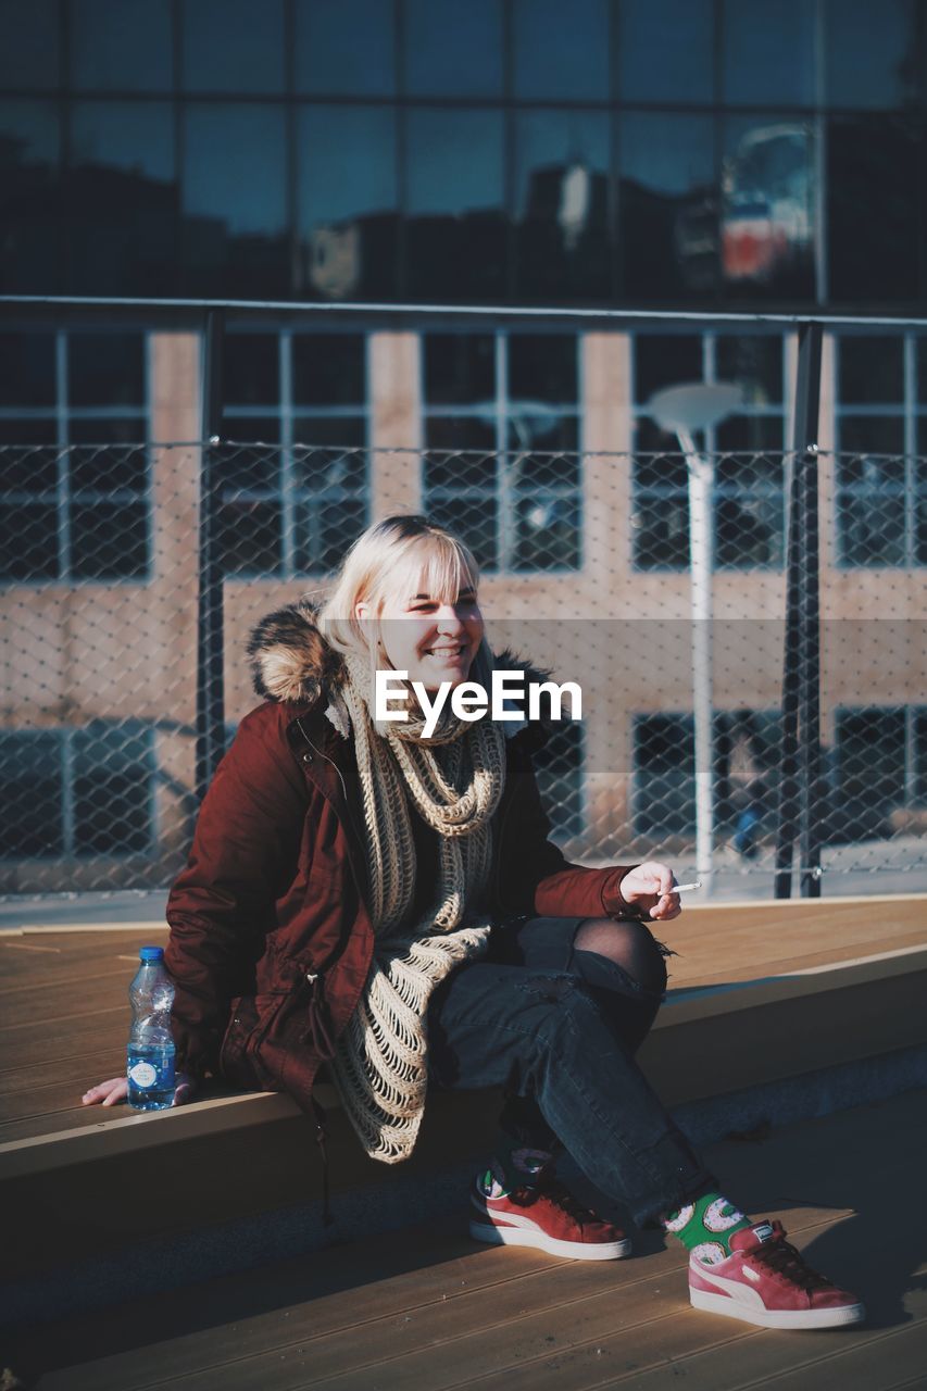
[[[927, 1385], [927, 1093], [708, 1150], [732, 1198], [781, 1216], [867, 1303], [859, 1328], [771, 1333], [697, 1313], [644, 1232], [608, 1263], [482, 1248], [440, 1225], [21, 1330], [38, 1391], [901, 1391]], [[131, 1198], [124, 1198], [131, 1200]]]

